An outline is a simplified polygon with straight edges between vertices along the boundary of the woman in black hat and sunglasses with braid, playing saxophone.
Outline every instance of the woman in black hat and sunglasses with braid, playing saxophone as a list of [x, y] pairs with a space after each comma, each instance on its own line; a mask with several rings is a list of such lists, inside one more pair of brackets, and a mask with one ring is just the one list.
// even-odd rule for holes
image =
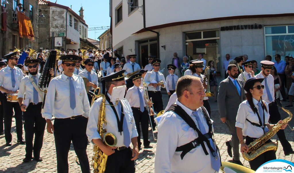
[[[263, 136], [276, 125], [268, 123], [270, 118], [268, 103], [262, 100], [263, 91], [265, 90], [265, 86], [262, 84], [263, 81], [263, 78], [251, 77], [244, 85], [247, 100], [240, 104], [235, 124], [238, 140], [241, 144], [241, 153], [248, 152], [248, 145], [251, 142]], [[287, 124], [283, 124], [281, 129], [286, 127]], [[243, 136], [245, 136], [245, 141]], [[271, 142], [271, 140], [269, 139], [266, 143], [268, 142]], [[265, 162], [275, 159], [274, 150], [266, 151], [249, 161], [250, 168], [256, 170]]]

